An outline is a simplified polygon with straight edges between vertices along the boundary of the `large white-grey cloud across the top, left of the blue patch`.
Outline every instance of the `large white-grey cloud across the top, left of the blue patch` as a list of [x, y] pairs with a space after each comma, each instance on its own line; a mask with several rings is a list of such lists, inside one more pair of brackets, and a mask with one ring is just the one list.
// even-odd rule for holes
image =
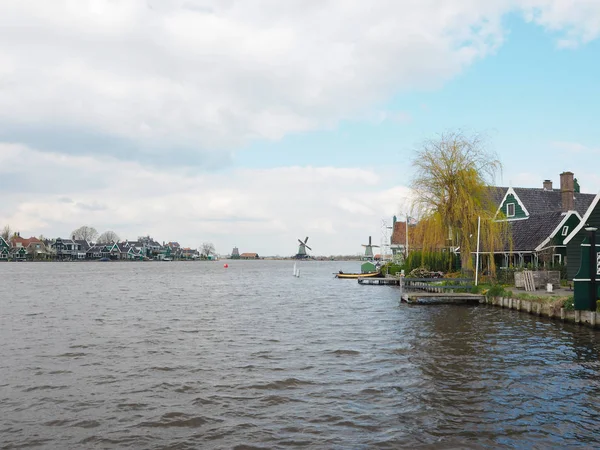
[[510, 11], [587, 42], [600, 29], [599, 4], [5, 0], [0, 119], [142, 148], [234, 148], [439, 86], [502, 44]]

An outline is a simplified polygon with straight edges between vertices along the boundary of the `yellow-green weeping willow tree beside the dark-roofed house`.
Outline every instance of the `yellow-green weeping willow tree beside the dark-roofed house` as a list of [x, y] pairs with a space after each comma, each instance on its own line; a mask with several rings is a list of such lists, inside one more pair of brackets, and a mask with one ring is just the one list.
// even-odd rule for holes
[[[443, 133], [425, 141], [412, 164], [414, 207], [420, 218], [415, 241], [424, 250], [459, 247], [463, 269], [472, 269], [478, 217], [481, 251], [489, 254], [505, 245], [508, 225], [495, 220], [497, 205], [489, 187], [502, 164], [481, 136]], [[493, 257], [489, 264], [495, 268]]]

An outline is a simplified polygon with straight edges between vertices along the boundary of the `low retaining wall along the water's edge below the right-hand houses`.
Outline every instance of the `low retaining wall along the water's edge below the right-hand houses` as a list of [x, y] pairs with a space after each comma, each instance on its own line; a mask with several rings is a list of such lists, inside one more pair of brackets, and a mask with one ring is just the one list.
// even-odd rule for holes
[[600, 313], [595, 311], [567, 311], [562, 305], [552, 302], [536, 302], [518, 298], [492, 297], [486, 298], [484, 303], [501, 308], [515, 309], [517, 311], [547, 317], [553, 320], [586, 325], [591, 328], [600, 327]]

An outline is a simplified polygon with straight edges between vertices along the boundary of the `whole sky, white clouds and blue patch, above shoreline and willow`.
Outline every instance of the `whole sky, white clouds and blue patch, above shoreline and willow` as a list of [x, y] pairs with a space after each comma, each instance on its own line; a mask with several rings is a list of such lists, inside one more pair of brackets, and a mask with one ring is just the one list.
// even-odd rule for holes
[[0, 226], [357, 254], [453, 130], [597, 193], [598, 73], [598, 0], [2, 0]]

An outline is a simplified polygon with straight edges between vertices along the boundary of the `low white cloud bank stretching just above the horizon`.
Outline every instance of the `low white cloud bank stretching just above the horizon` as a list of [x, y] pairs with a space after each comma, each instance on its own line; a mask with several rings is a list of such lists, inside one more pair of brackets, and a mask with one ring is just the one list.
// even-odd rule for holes
[[[121, 238], [151, 234], [192, 247], [210, 240], [224, 254], [237, 245], [292, 255], [296, 239], [306, 235], [315, 254], [353, 254], [365, 236], [379, 233], [382, 218], [391, 221], [409, 193], [386, 188], [369, 169], [281, 167], [185, 176], [17, 145], [0, 144], [0, 155], [0, 224], [23, 235], [68, 236], [88, 224]], [[103, 183], [90, 185], [95, 178]]]

